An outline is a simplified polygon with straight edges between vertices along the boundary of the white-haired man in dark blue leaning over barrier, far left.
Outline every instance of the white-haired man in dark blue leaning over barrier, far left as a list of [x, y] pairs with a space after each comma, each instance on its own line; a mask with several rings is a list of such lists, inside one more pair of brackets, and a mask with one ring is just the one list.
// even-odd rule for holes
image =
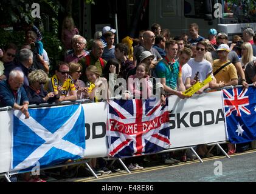
[[9, 78], [0, 82], [0, 107], [10, 106], [20, 110], [25, 118], [29, 118], [29, 98], [22, 87], [24, 73], [19, 70], [12, 70]]

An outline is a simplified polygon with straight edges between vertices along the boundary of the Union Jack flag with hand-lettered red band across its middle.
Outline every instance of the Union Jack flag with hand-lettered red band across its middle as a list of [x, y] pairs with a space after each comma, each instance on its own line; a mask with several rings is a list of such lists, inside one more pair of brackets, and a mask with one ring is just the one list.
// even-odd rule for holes
[[114, 100], [109, 102], [109, 156], [156, 153], [170, 147], [168, 102], [156, 99]]

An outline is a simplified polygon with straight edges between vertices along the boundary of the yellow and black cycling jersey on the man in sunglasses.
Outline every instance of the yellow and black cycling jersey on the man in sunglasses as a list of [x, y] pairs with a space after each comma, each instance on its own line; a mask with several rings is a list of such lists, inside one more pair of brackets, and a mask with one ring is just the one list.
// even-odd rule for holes
[[60, 83], [60, 81], [57, 78], [57, 75], [52, 76], [52, 78], [50, 78], [50, 82], [52, 84], [52, 88], [54, 89], [54, 92], [58, 92], [57, 90], [58, 85], [61, 85], [62, 87], [61, 96], [66, 96], [69, 91], [75, 91], [75, 84], [73, 79], [70, 76], [68, 76], [67, 80], [63, 84]]

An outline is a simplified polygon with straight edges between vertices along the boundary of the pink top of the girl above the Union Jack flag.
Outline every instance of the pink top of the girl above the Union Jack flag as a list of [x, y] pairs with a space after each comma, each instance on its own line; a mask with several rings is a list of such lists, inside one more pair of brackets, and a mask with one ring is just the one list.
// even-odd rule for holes
[[142, 79], [135, 78], [136, 75], [131, 75], [128, 78], [128, 90], [131, 92], [131, 95], [135, 97], [140, 96], [140, 98], [144, 99], [150, 98], [153, 87], [149, 80], [150, 76]]

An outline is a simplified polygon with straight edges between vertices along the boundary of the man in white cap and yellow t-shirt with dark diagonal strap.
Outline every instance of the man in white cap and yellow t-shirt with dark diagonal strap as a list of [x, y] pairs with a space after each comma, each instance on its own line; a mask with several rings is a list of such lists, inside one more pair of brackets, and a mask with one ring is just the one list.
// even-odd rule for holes
[[230, 52], [229, 46], [227, 44], [221, 44], [216, 51], [220, 58], [213, 61], [213, 75], [216, 78], [216, 82], [223, 82], [220, 84], [220, 87], [237, 85], [237, 69], [235, 69], [235, 65], [228, 59]]

